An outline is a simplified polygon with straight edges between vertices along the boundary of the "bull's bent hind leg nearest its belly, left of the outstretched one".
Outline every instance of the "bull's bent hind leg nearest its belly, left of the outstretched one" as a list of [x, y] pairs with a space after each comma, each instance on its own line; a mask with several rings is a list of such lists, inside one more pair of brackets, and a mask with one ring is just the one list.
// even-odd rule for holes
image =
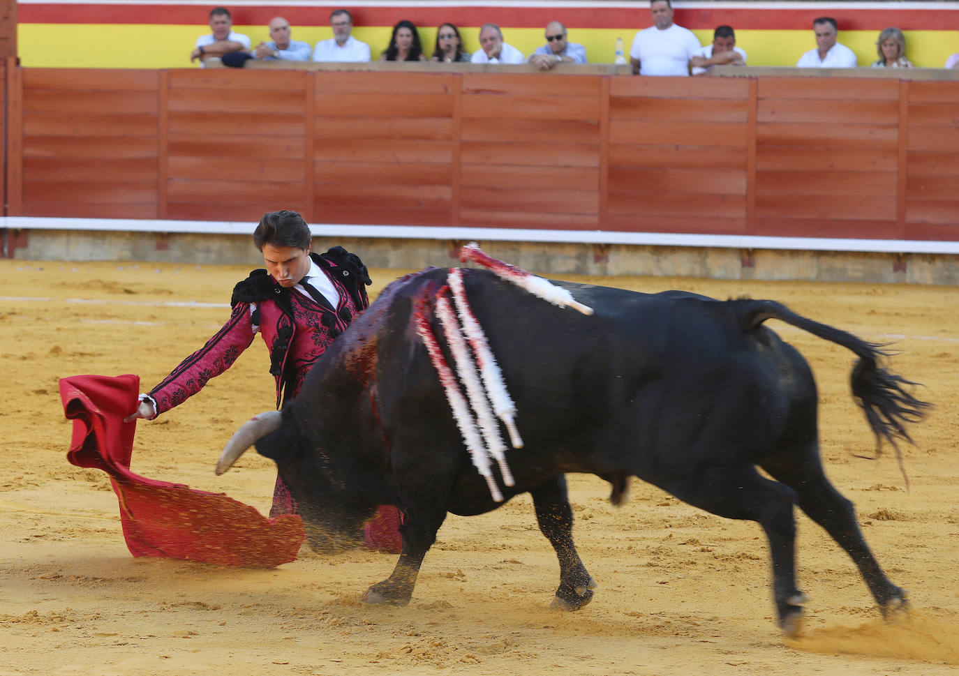
[[805, 596], [796, 588], [795, 494], [778, 481], [760, 476], [752, 465], [707, 467], [693, 476], [662, 484], [682, 501], [728, 519], [755, 521], [769, 541], [773, 594], [780, 626], [787, 634], [798, 631]]

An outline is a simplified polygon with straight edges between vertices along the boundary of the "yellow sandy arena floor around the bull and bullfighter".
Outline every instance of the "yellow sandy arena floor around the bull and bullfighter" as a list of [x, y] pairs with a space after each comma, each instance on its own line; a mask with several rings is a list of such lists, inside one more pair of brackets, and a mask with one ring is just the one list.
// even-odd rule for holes
[[[495, 250], [490, 253], [496, 255]], [[396, 270], [373, 270], [382, 289]], [[937, 406], [894, 455], [849, 393], [853, 357], [775, 324], [821, 391], [830, 478], [857, 506], [877, 558], [911, 594], [892, 624], [846, 555], [798, 514], [803, 637], [773, 619], [760, 527], [726, 521], [639, 481], [609, 505], [607, 484], [571, 478], [575, 534], [599, 582], [593, 603], [549, 609], [555, 556], [526, 498], [450, 517], [407, 608], [360, 594], [394, 557], [303, 553], [273, 571], [133, 559], [104, 473], [69, 465], [72, 422], [58, 379], [137, 373], [148, 389], [212, 335], [246, 268], [0, 261], [0, 674], [955, 674], [959, 665], [959, 290], [622, 277], [641, 291], [748, 294], [862, 338], [896, 340], [895, 368]], [[198, 305], [176, 305], [196, 301]], [[208, 304], [208, 305], [201, 305]], [[269, 509], [275, 470], [247, 454], [216, 477], [224, 441], [272, 406], [260, 338], [199, 396], [139, 423], [132, 469]], [[887, 451], [889, 451], [887, 449]]]

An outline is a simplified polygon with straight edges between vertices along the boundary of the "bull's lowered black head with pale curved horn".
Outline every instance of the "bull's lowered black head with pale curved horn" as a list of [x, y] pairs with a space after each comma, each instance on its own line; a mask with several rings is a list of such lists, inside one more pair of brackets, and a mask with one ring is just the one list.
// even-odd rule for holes
[[252, 445], [276, 463], [306, 526], [307, 541], [315, 551], [334, 552], [363, 542], [363, 522], [376, 505], [361, 505], [333, 479], [329, 461], [310, 444], [292, 420], [280, 411], [256, 415], [236, 431], [223, 447], [216, 472], [222, 475]]

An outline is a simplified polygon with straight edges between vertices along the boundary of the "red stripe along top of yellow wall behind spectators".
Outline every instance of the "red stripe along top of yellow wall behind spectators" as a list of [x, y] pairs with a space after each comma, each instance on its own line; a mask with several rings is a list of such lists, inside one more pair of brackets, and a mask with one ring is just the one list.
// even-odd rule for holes
[[[213, 3], [211, 3], [212, 5]], [[348, 7], [348, 5], [347, 5]], [[645, 9], [624, 8], [553, 10], [532, 7], [380, 7], [357, 8], [353, 18], [358, 26], [392, 26], [409, 19], [420, 26], [438, 26], [452, 20], [459, 26], [479, 26], [487, 22], [503, 28], [529, 28], [559, 19], [571, 28], [627, 28], [629, 31], [650, 25]], [[204, 7], [196, 5], [19, 5], [20, 23], [54, 24], [206, 24]], [[266, 25], [282, 13], [296, 26], [328, 26], [329, 8], [325, 7], [240, 7], [231, 10], [233, 23], [242, 26]], [[675, 21], [690, 29], [713, 29], [729, 24], [737, 30], [803, 30], [812, 27], [812, 19], [826, 12], [822, 7], [808, 10], [677, 9]], [[830, 13], [830, 12], [827, 12]], [[898, 26], [904, 31], [946, 31], [959, 28], [959, 10], [848, 10], [831, 12], [840, 31], [880, 31]]]

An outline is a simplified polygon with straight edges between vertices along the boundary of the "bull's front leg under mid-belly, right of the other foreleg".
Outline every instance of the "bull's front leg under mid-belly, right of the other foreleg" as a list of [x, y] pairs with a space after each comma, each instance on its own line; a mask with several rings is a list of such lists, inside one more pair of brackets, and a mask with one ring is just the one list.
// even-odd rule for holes
[[573, 544], [573, 508], [566, 491], [566, 477], [559, 475], [529, 491], [536, 508], [540, 531], [550, 541], [559, 559], [559, 588], [550, 606], [579, 610], [593, 600], [596, 580], [583, 566]]

